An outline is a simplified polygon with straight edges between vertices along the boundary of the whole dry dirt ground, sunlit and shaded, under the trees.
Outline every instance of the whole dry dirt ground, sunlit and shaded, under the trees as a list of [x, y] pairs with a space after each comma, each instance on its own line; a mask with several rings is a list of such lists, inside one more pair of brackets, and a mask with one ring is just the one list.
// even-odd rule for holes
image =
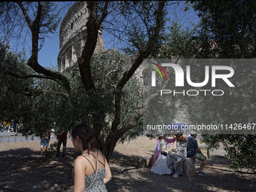
[[[51, 139], [50, 143], [54, 141]], [[72, 191], [72, 167], [78, 153], [71, 140], [66, 157], [51, 161], [39, 157], [39, 142], [0, 144], [0, 191]], [[155, 175], [150, 169], [137, 169], [139, 158], [151, 157], [154, 145], [155, 140], [143, 136], [118, 144], [109, 163], [112, 179], [107, 184], [108, 191], [255, 191], [255, 174], [246, 169], [231, 172], [222, 149], [211, 152], [205, 168], [208, 176], [172, 178]], [[197, 161], [197, 170], [199, 165]]]

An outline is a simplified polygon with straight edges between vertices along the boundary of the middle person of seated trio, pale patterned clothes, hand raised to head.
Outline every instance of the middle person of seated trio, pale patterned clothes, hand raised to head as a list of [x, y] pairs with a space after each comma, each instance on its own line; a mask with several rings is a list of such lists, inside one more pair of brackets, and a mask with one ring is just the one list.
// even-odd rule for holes
[[171, 168], [173, 166], [175, 174], [172, 175], [173, 178], [178, 178], [179, 175], [183, 174], [183, 161], [187, 157], [187, 137], [184, 133], [177, 133], [173, 135], [176, 139], [176, 151], [169, 151], [167, 154], [167, 166]]

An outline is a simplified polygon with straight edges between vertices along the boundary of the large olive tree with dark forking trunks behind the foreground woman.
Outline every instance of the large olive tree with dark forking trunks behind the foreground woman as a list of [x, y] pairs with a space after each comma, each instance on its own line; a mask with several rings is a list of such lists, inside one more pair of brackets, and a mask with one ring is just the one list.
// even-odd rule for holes
[[[52, 12], [55, 8], [53, 2], [3, 2], [0, 7], [3, 21], [2, 26], [5, 26], [2, 29], [6, 29], [6, 34], [8, 34], [8, 29], [11, 29], [7, 27], [8, 24], [14, 23], [14, 21], [17, 22], [18, 19], [18, 23], [24, 21], [22, 27], [27, 26], [29, 28], [29, 35], [31, 37], [31, 55], [26, 61], [26, 65], [33, 69], [32, 74], [27, 76], [8, 73], [8, 75], [16, 78], [36, 78], [34, 87], [30, 89], [30, 93], [33, 94], [31, 111], [34, 108], [41, 108], [45, 112], [35, 115], [33, 120], [26, 116], [28, 118], [23, 118], [23, 123], [29, 125], [29, 122], [36, 122], [33, 123], [35, 126], [31, 127], [31, 129], [40, 127], [41, 130], [43, 128], [46, 129], [45, 126], [53, 126], [54, 122], [56, 126], [63, 126], [60, 123], [60, 119], [53, 120], [52, 118], [57, 111], [59, 111], [59, 114], [56, 115], [62, 116], [62, 118], [67, 117], [69, 113], [79, 111], [81, 113], [78, 114], [78, 117], [81, 118], [75, 119], [72, 123], [90, 122], [95, 130], [96, 138], [100, 141], [100, 147], [107, 160], [109, 160], [117, 141], [127, 131], [136, 127], [142, 117], [143, 108], [141, 103], [129, 111], [131, 109], [130, 106], [133, 104], [128, 103], [128, 99], [136, 101], [138, 98], [132, 99], [126, 93], [131, 93], [131, 90], [133, 90], [133, 93], [134, 91], [139, 91], [138, 87], [129, 85], [129, 82], [143, 59], [157, 54], [160, 48], [166, 21], [166, 2], [87, 2], [87, 11], [89, 13], [86, 23], [87, 41], [81, 56], [78, 58], [79, 77], [77, 77], [80, 79], [83, 89], [81, 84], [74, 82], [79, 87], [75, 87], [75, 89], [79, 89], [79, 91], [72, 89], [74, 85], [71, 85], [72, 81], [68, 75], [52, 69], [46, 69], [38, 63], [40, 42], [44, 40], [42, 35], [47, 32], [53, 32], [59, 23], [58, 14], [53, 14]], [[13, 17], [14, 15], [16, 17]], [[111, 22], [109, 22], [107, 20], [109, 15], [116, 17], [111, 17]], [[124, 22], [114, 23], [119, 22], [114, 20], [117, 16]], [[104, 86], [101, 84], [101, 81], [97, 81], [98, 75], [96, 74], [96, 72], [101, 74], [104, 71], [101, 69], [105, 67], [107, 69], [108, 65], [102, 63], [101, 66], [93, 66], [93, 53], [96, 47], [99, 28], [103, 26], [104, 29], [103, 21], [111, 23], [108, 26], [108, 31], [114, 33], [114, 31], [117, 31], [117, 26], [123, 29], [123, 37], [120, 38], [120, 41], [126, 42], [126, 50], [134, 54], [131, 62], [120, 62], [120, 69], [114, 69], [113, 72], [108, 71], [108, 73], [104, 74], [106, 78], [114, 78], [112, 84], [104, 84], [104, 86], [107, 84], [110, 86], [111, 93], [103, 91]], [[120, 24], [123, 26], [120, 26]], [[11, 26], [14, 27], [15, 25]], [[15, 30], [13, 31], [15, 32]], [[74, 74], [77, 75], [76, 73], [77, 71], [75, 70]], [[112, 77], [113, 75], [114, 77]], [[47, 92], [47, 84], [53, 84], [52, 81], [60, 85], [60, 87], [56, 88], [55, 91]], [[128, 90], [126, 90], [126, 87]], [[38, 88], [44, 93], [36, 97], [34, 93]], [[53, 96], [54, 94], [56, 95]], [[139, 96], [139, 94], [137, 95]], [[72, 96], [74, 98], [81, 96], [81, 99], [75, 101], [75, 99], [72, 99]], [[51, 102], [51, 99], [56, 101]], [[63, 101], [66, 102], [66, 105], [63, 105]], [[43, 105], [44, 103], [49, 103], [49, 105]], [[136, 103], [134, 102], [134, 104]], [[53, 105], [55, 107], [62, 106], [62, 108], [50, 110], [50, 106]], [[72, 105], [74, 108], [69, 108], [69, 105]], [[72, 109], [72, 111], [69, 111], [69, 109]], [[126, 112], [124, 109], [128, 111]], [[50, 113], [47, 114], [46, 111], [50, 111]], [[90, 111], [90, 114], [87, 111]], [[36, 119], [37, 117], [40, 118]], [[106, 123], [106, 119], [108, 119], [108, 123]], [[109, 120], [111, 123], [109, 123]]]

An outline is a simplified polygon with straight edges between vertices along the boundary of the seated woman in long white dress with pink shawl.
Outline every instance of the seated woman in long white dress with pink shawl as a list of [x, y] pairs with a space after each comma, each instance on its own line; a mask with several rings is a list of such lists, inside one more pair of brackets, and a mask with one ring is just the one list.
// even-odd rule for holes
[[170, 175], [172, 174], [172, 167], [168, 168], [167, 166], [167, 147], [171, 147], [175, 139], [168, 139], [164, 134], [161, 134], [158, 139], [156, 146], [154, 148], [154, 157], [151, 172], [154, 172], [158, 175]]

